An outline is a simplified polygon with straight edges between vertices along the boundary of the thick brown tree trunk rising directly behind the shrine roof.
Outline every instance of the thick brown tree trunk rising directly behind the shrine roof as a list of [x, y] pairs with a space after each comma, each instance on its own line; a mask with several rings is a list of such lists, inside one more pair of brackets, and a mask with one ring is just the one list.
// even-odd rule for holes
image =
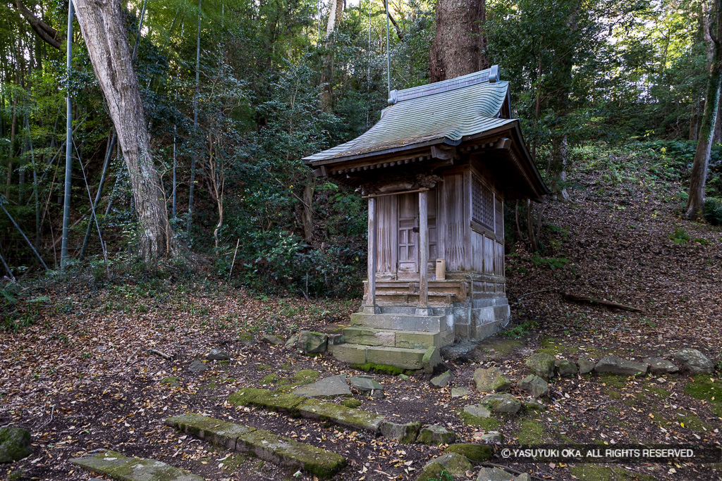
[[489, 68], [484, 56], [486, 0], [438, 0], [431, 45], [431, 81], [453, 79]]

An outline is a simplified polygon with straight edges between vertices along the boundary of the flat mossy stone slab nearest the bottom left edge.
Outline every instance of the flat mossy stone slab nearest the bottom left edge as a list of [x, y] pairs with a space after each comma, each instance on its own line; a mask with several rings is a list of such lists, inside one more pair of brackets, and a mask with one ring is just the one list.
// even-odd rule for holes
[[129, 458], [116, 451], [103, 451], [70, 459], [71, 464], [96, 475], [120, 481], [203, 481], [202, 477], [155, 459]]

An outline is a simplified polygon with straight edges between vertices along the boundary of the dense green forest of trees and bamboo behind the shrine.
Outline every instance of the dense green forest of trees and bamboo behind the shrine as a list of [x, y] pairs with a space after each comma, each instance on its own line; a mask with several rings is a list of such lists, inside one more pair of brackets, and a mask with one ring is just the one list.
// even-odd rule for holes
[[[433, 1], [390, 2], [391, 89], [430, 81], [435, 12]], [[183, 253], [174, 262], [258, 290], [358, 294], [365, 203], [314, 179], [301, 158], [378, 120], [388, 94], [385, 13], [380, 0], [123, 5]], [[0, 255], [16, 277], [43, 270], [38, 256], [60, 266], [69, 96], [69, 269], [101, 281], [152, 266], [139, 256], [128, 172], [77, 24], [66, 73], [67, 17], [63, 1], [0, 5]], [[713, 19], [692, 0], [487, 0], [475, 35], [511, 82], [513, 117], [561, 197], [580, 188], [565, 169], [595, 146], [652, 149], [691, 169]], [[706, 187], [712, 222], [722, 221], [720, 124]], [[541, 209], [506, 208], [517, 226], [506, 229], [508, 251], [519, 242], [543, 252]]]

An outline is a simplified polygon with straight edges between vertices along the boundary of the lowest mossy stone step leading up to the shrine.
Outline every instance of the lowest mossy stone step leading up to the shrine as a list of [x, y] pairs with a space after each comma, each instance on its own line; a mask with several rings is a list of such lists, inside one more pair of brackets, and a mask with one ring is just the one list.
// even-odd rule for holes
[[432, 371], [441, 360], [438, 348], [408, 349], [385, 345], [341, 344], [334, 348], [334, 358], [349, 364], [383, 364], [399, 369]]

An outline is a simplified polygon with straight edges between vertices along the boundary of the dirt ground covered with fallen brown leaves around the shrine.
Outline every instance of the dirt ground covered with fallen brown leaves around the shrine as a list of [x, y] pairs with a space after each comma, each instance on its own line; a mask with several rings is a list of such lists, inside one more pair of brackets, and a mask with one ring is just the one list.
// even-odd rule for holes
[[[595, 163], [596, 162], [596, 163]], [[722, 361], [722, 238], [717, 227], [679, 219], [679, 182], [660, 187], [658, 169], [644, 156], [626, 158], [632, 169], [610, 176], [590, 161], [570, 172], [569, 202], [543, 208], [544, 257], [522, 244], [508, 252], [510, 330], [484, 341], [472, 360], [449, 363], [455, 379], [432, 389], [422, 376], [404, 380], [378, 374], [386, 397], [355, 394], [360, 409], [397, 422], [420, 420], [474, 442], [483, 428], [465, 425], [458, 410], [482, 397], [471, 375], [497, 366], [516, 381], [524, 361], [541, 350], [559, 358], [606, 355], [641, 361], [670, 358], [683, 347]], [[537, 211], [538, 211], [537, 210]], [[526, 219], [524, 219], [526, 221]], [[516, 229], [507, 219], [507, 229]], [[686, 239], [685, 239], [686, 237]], [[209, 480], [309, 479], [250, 456], [214, 448], [163, 425], [171, 415], [196, 412], [264, 428], [342, 454], [339, 480], [412, 480], [442, 449], [396, 444], [313, 420], [238, 408], [227, 396], [242, 387], [282, 388], [303, 369], [321, 376], [359, 374], [331, 356], [301, 356], [258, 339], [288, 337], [310, 328], [333, 332], [348, 322], [358, 300], [312, 300], [248, 294], [214, 281], [149, 278], [104, 286], [76, 281], [38, 295], [51, 301], [38, 320], [17, 334], [0, 333], [0, 425], [30, 429], [35, 453], [0, 466], [0, 478], [87, 480], [68, 459], [93, 449], [152, 457]], [[636, 313], [574, 304], [565, 294], [607, 299], [643, 309]], [[248, 342], [241, 333], [255, 337]], [[227, 364], [188, 365], [211, 348], [231, 355]], [[173, 356], [166, 360], [149, 349]], [[269, 376], [270, 375], [270, 376]], [[178, 386], [161, 384], [178, 377]], [[451, 387], [469, 387], [451, 397]], [[722, 378], [671, 374], [576, 376], [556, 379], [547, 410], [500, 418], [509, 444], [630, 443], [720, 446]], [[516, 389], [513, 394], [522, 396]], [[548, 480], [718, 480], [721, 465], [508, 464]]]

